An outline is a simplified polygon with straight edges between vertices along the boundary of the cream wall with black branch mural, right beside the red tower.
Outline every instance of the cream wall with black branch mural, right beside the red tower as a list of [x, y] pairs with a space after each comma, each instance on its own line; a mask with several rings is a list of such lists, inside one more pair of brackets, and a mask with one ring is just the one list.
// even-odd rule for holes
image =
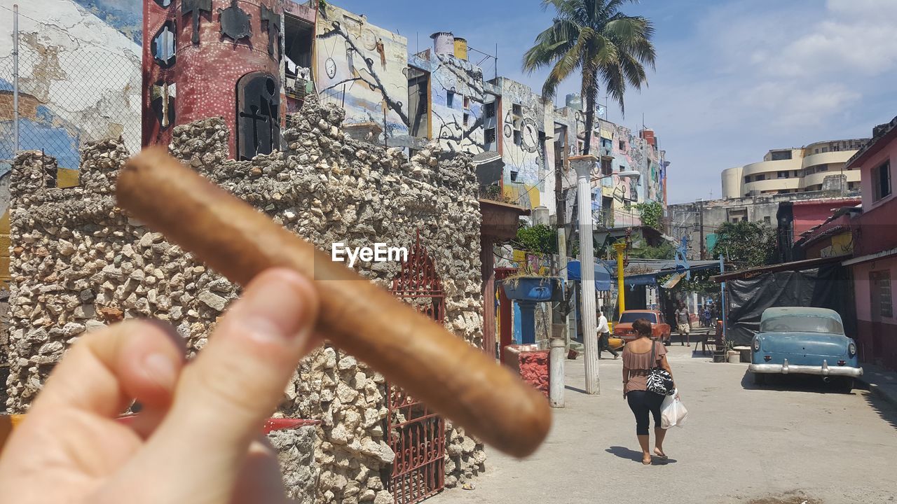
[[321, 101], [343, 107], [347, 123], [385, 123], [388, 136], [408, 134], [405, 37], [327, 4], [318, 13], [315, 52]]

